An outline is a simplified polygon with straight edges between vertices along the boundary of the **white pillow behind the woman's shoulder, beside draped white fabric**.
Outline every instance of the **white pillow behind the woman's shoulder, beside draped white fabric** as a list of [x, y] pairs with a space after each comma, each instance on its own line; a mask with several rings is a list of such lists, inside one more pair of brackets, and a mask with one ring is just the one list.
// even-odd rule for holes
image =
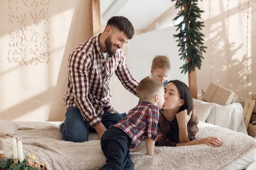
[[212, 106], [214, 106], [214, 103], [193, 99], [193, 105], [195, 105], [195, 113], [198, 117], [198, 120], [205, 122], [209, 116]]

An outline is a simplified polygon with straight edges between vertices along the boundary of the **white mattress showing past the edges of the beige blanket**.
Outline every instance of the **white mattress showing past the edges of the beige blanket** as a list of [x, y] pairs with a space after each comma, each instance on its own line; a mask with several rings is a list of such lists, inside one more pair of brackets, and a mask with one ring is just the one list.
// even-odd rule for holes
[[[47, 121], [40, 121], [40, 122], [14, 122], [19, 127], [35, 127], [35, 128], [42, 128], [47, 126], [54, 126], [58, 127], [61, 122], [47, 122]], [[246, 169], [250, 164], [253, 164], [253, 162], [256, 161], [256, 149], [252, 150], [250, 153], [243, 156], [241, 159], [236, 161], [235, 163], [231, 164], [229, 167], [227, 167], [225, 170], [244, 170]]]

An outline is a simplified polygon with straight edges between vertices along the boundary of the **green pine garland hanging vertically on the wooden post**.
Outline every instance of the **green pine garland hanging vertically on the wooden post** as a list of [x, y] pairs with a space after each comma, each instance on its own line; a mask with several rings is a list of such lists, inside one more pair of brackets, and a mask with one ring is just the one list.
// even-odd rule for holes
[[198, 0], [176, 0], [175, 8], [180, 8], [181, 11], [174, 20], [180, 17], [183, 20], [177, 25], [177, 30], [180, 30], [180, 33], [173, 36], [178, 38], [176, 42], [178, 42], [177, 46], [180, 47], [180, 59], [185, 60], [185, 64], [180, 67], [181, 73], [186, 74], [186, 72], [195, 71], [195, 67], [201, 69], [202, 59], [204, 59], [202, 52], [206, 52], [205, 48], [207, 47], [203, 46], [204, 34], [200, 32], [201, 27], [204, 27], [204, 22], [199, 21], [201, 13], [204, 11], [198, 8]]

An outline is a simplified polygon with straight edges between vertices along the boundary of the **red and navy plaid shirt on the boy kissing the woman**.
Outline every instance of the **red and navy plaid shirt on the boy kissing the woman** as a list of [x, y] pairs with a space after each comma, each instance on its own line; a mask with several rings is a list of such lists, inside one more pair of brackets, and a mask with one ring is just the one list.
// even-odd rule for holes
[[157, 140], [157, 123], [159, 115], [162, 113], [157, 106], [149, 102], [140, 102], [131, 109], [125, 119], [119, 121], [111, 127], [118, 127], [130, 136], [135, 142], [131, 144], [131, 149], [138, 147], [145, 139]]

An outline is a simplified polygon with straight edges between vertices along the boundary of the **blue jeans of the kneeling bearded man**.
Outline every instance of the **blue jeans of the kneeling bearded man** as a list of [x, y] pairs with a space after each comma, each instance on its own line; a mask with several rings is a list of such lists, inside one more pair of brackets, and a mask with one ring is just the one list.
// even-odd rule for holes
[[[108, 129], [111, 125], [115, 125], [126, 116], [126, 113], [112, 114], [104, 108], [102, 124]], [[88, 133], [96, 133], [96, 130], [90, 128], [88, 122], [84, 121], [79, 108], [70, 107], [67, 109], [66, 119], [60, 126], [62, 140], [70, 142], [88, 141]]]

